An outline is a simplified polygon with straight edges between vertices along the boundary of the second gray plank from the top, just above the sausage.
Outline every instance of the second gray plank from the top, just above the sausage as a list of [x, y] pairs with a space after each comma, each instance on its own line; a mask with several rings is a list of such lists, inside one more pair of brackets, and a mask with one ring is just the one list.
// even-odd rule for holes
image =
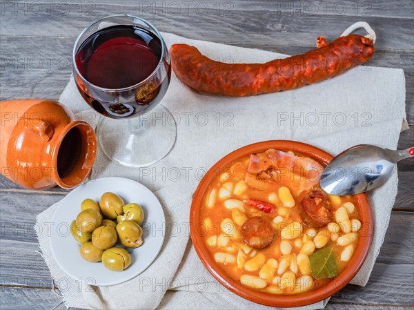
[[[130, 5], [97, 4], [90, 12], [84, 12], [79, 4], [71, 4], [68, 10], [56, 10], [47, 14], [24, 14], [24, 10], [5, 12], [0, 30], [3, 37], [77, 37], [90, 21], [117, 13], [136, 13], [137, 7]], [[201, 9], [202, 10], [202, 9]], [[141, 10], [141, 17], [156, 23], [162, 31], [174, 32], [193, 39], [203, 38], [221, 43], [242, 43], [252, 46], [314, 46], [319, 35], [332, 40], [348, 26], [362, 19], [361, 16], [340, 14], [299, 15], [278, 14], [269, 10], [229, 10], [221, 14], [216, 10], [188, 10], [179, 14], [147, 12]], [[414, 43], [411, 19], [377, 18], [364, 16], [377, 33], [375, 47], [379, 50], [411, 50]], [[62, 26], [64, 25], [64, 27]], [[202, 26], [200, 26], [202, 25]], [[312, 25], [312, 27], [309, 27]], [[328, 27], [327, 27], [328, 25]]]

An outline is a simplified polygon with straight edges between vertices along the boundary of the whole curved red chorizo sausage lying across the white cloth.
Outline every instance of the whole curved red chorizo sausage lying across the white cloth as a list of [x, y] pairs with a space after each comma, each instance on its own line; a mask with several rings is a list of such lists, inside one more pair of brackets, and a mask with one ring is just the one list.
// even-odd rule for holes
[[316, 83], [371, 59], [374, 41], [346, 35], [332, 43], [317, 39], [316, 50], [266, 64], [226, 64], [201, 55], [194, 46], [170, 48], [175, 75], [195, 90], [214, 95], [244, 97], [291, 90]]

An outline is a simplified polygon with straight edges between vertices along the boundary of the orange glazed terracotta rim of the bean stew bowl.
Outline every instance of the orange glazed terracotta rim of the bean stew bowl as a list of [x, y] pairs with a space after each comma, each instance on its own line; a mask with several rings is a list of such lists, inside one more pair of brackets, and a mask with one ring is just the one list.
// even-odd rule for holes
[[252, 153], [262, 153], [269, 148], [276, 148], [280, 151], [293, 151], [299, 155], [304, 155], [315, 159], [317, 162], [326, 166], [332, 159], [333, 156], [322, 151], [315, 146], [304, 144], [301, 142], [287, 141], [287, 140], [273, 140], [259, 142], [256, 144], [250, 144], [242, 148], [233, 151], [232, 153], [221, 158], [214, 166], [203, 177], [197, 190], [193, 195], [193, 202], [190, 209], [190, 234], [191, 239], [195, 247], [195, 251], [199, 256], [204, 267], [216, 278], [221, 284], [224, 285], [233, 293], [236, 293], [242, 298], [257, 302], [258, 304], [265, 304], [271, 307], [301, 307], [306, 304], [313, 304], [320, 300], [324, 300], [329, 296], [345, 287], [349, 281], [355, 276], [358, 270], [364, 264], [366, 255], [371, 246], [373, 238], [373, 215], [371, 212], [371, 206], [365, 194], [354, 195], [355, 207], [359, 211], [359, 217], [362, 222], [362, 228], [359, 233], [359, 240], [355, 247], [355, 253], [348, 262], [348, 265], [344, 270], [333, 278], [331, 281], [324, 284], [322, 287], [315, 289], [314, 291], [308, 291], [305, 293], [298, 293], [295, 295], [274, 295], [265, 293], [263, 291], [257, 291], [250, 289], [242, 285], [238, 281], [231, 280], [224, 269], [221, 269], [220, 265], [215, 262], [213, 255], [207, 249], [206, 240], [204, 233], [200, 233], [199, 226], [201, 224], [200, 218], [200, 206], [204, 203], [203, 197], [206, 191], [208, 191], [208, 185], [217, 180], [219, 173], [225, 171], [231, 162], [248, 156]]

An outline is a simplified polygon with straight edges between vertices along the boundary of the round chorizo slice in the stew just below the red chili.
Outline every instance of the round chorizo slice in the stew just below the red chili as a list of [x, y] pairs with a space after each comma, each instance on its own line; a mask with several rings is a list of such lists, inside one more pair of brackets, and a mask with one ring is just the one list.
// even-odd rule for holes
[[248, 246], [264, 249], [275, 238], [275, 231], [269, 220], [262, 216], [250, 217], [242, 225], [242, 238]]

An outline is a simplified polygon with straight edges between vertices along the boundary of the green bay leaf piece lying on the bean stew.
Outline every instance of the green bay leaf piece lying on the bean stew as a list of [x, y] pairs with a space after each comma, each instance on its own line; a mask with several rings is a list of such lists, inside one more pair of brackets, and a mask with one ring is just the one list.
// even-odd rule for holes
[[313, 252], [309, 255], [313, 278], [333, 278], [338, 275], [335, 253], [332, 246]]

